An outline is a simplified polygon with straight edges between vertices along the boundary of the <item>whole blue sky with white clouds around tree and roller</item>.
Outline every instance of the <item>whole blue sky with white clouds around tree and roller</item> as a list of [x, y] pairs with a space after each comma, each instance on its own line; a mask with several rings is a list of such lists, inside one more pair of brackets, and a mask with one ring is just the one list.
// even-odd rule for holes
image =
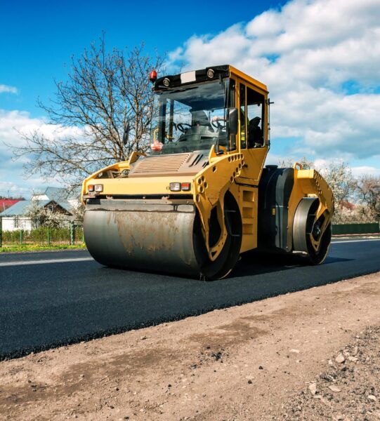
[[[307, 156], [321, 167], [343, 159], [355, 174], [380, 175], [380, 1], [35, 1], [0, 2], [0, 194], [57, 185], [26, 178], [3, 142], [48, 125], [37, 98], [54, 97], [79, 55], [102, 30], [107, 45], [169, 53], [169, 68], [232, 64], [266, 83], [269, 161]], [[17, 7], [17, 8], [16, 8]], [[20, 22], [14, 25], [15, 20]], [[60, 135], [62, 128], [60, 128]]]

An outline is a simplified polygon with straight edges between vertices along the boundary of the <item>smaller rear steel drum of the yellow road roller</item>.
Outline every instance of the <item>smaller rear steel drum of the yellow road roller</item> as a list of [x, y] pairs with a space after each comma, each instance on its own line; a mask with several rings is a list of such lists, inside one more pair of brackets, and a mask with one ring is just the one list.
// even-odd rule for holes
[[311, 265], [325, 261], [331, 243], [331, 223], [325, 223], [325, 215], [317, 219], [319, 200], [303, 198], [296, 209], [293, 224], [293, 246], [295, 251], [306, 253]]

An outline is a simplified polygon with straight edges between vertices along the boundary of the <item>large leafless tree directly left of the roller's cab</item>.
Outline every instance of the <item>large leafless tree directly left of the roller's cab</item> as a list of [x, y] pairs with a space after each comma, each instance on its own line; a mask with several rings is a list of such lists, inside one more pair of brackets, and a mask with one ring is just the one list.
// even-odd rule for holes
[[16, 158], [29, 159], [25, 172], [79, 184], [133, 150], [145, 152], [153, 104], [148, 77], [152, 69], [162, 70], [163, 62], [143, 53], [143, 45], [107, 53], [104, 36], [79, 59], [73, 57], [67, 81], [55, 82], [55, 100], [38, 102], [55, 135], [22, 133], [25, 145], [13, 147]]

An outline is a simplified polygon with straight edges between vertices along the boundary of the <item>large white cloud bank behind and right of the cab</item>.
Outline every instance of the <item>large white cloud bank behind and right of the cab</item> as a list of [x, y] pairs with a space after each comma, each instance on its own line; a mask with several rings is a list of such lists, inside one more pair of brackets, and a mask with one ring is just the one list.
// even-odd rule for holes
[[185, 69], [229, 63], [266, 83], [275, 154], [284, 137], [300, 139], [291, 155], [380, 162], [379, 0], [289, 1], [247, 25], [192, 36], [175, 58]]

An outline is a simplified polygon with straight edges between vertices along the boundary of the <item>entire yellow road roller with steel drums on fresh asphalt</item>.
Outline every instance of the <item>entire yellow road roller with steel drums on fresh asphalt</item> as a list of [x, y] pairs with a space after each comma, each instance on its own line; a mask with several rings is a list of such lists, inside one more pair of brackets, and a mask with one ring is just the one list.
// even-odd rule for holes
[[[231, 65], [157, 77], [149, 152], [84, 180], [84, 239], [102, 265], [222, 279], [242, 253], [320, 265], [334, 196], [315, 170], [267, 165], [268, 89]], [[253, 253], [254, 254], [254, 253]], [[252, 262], [254, 272], [254, 261]]]

